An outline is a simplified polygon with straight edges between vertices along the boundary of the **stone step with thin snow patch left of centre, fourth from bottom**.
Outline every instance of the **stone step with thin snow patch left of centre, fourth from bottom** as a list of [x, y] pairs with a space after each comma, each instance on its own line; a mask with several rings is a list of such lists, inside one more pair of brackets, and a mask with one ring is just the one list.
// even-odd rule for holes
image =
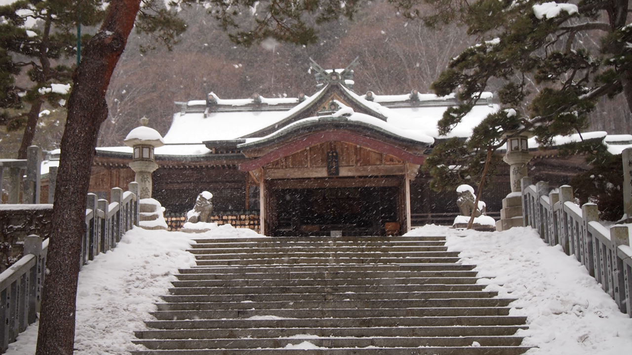
[[349, 327], [447, 327], [475, 325], [523, 325], [523, 316], [418, 316], [371, 318], [301, 318], [301, 319], [215, 319], [150, 320], [147, 327], [156, 329], [200, 328], [349, 328]]

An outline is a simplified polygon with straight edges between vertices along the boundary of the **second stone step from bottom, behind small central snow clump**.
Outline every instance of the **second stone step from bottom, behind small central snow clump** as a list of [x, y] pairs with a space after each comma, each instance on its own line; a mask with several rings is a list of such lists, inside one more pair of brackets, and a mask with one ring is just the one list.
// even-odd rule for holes
[[329, 337], [293, 339], [192, 339], [192, 340], [135, 340], [149, 349], [257, 349], [284, 348], [308, 341], [315, 346], [327, 348], [344, 347], [466, 347], [478, 342], [480, 346], [520, 346], [522, 337]]

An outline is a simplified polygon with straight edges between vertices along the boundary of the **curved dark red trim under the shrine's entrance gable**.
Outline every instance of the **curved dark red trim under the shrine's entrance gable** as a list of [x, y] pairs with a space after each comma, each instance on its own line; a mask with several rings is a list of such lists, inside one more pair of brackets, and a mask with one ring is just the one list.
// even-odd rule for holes
[[311, 147], [312, 145], [323, 143], [325, 141], [346, 141], [348, 143], [355, 143], [358, 145], [362, 145], [363, 147], [377, 150], [381, 153], [394, 155], [399, 159], [402, 159], [406, 162], [411, 162], [413, 164], [422, 165], [425, 161], [425, 157], [423, 157], [422, 155], [415, 155], [406, 152], [406, 150], [395, 147], [394, 145], [384, 143], [383, 141], [375, 140], [373, 138], [368, 138], [361, 135], [356, 135], [355, 133], [351, 132], [330, 131], [315, 133], [305, 138], [301, 138], [300, 140], [293, 141], [288, 145], [284, 145], [279, 149], [264, 154], [262, 157], [258, 157], [257, 159], [251, 160], [250, 162], [240, 164], [239, 169], [241, 171], [253, 171], [266, 164], [269, 164], [270, 162], [274, 162], [274, 160], [287, 157], [288, 155], [296, 153], [302, 149]]

